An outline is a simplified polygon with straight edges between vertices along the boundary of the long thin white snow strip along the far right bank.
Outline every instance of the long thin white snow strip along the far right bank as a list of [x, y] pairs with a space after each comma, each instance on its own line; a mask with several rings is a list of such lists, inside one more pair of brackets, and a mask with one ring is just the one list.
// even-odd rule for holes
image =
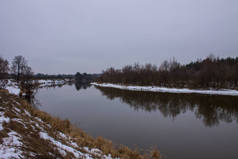
[[196, 93], [196, 94], [210, 94], [210, 95], [229, 95], [238, 96], [237, 90], [198, 90], [198, 89], [187, 89], [187, 88], [166, 88], [156, 86], [125, 86], [111, 83], [91, 83], [92, 85], [99, 87], [117, 88], [130, 91], [148, 91], [148, 92], [164, 92], [164, 93]]

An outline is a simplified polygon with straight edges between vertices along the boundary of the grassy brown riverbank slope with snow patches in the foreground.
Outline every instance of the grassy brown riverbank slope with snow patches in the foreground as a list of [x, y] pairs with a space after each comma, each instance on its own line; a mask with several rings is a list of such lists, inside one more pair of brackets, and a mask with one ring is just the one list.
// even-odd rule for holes
[[33, 108], [7, 90], [0, 90], [0, 158], [160, 158], [158, 151], [141, 155], [92, 138], [68, 120]]

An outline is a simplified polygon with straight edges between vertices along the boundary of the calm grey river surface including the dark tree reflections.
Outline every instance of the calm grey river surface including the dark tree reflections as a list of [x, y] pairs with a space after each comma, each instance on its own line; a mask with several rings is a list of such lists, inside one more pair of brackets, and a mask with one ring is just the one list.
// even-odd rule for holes
[[156, 146], [164, 158], [238, 158], [238, 97], [77, 89], [41, 89], [39, 108], [116, 144]]

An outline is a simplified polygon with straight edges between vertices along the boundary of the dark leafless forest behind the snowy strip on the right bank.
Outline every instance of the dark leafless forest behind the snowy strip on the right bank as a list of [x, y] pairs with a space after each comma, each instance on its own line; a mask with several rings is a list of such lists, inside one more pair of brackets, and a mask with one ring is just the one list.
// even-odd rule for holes
[[152, 64], [127, 65], [122, 69], [108, 68], [97, 82], [124, 85], [162, 86], [177, 88], [238, 89], [238, 57], [219, 58], [214, 55], [189, 64], [175, 59], [159, 67]]

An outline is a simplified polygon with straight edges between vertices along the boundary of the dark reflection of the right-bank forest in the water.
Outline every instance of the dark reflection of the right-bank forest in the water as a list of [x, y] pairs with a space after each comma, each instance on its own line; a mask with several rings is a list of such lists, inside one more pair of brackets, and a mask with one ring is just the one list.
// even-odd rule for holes
[[200, 94], [172, 94], [142, 91], [126, 91], [115, 88], [99, 89], [104, 96], [113, 100], [119, 98], [135, 110], [159, 110], [165, 117], [175, 118], [181, 113], [192, 111], [203, 119], [206, 126], [219, 122], [238, 122], [238, 97]]

